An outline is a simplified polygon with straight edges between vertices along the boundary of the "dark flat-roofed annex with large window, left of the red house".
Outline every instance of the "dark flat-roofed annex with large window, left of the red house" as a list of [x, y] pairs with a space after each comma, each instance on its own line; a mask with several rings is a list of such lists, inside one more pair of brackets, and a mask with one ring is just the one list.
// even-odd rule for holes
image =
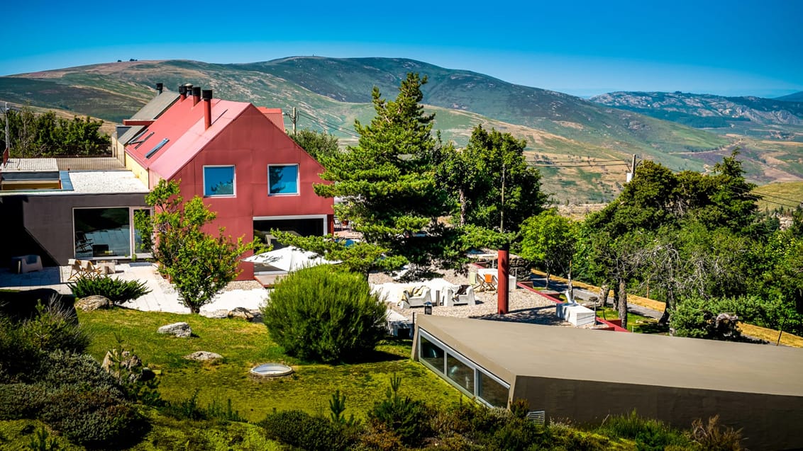
[[135, 211], [148, 187], [130, 171], [59, 170], [55, 159], [10, 159], [0, 168], [0, 258], [128, 258], [141, 252]]

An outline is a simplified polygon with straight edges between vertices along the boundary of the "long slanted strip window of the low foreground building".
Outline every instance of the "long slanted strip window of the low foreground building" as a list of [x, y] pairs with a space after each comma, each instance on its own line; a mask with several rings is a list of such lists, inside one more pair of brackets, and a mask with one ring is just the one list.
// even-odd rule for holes
[[491, 407], [507, 407], [510, 385], [418, 328], [418, 360], [461, 392]]

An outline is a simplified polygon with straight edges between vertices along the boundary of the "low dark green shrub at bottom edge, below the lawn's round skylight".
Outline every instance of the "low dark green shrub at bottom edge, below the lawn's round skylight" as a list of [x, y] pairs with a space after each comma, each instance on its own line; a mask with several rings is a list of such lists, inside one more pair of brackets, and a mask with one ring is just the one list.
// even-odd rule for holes
[[269, 413], [259, 423], [268, 438], [307, 451], [351, 449], [349, 427], [300, 410]]

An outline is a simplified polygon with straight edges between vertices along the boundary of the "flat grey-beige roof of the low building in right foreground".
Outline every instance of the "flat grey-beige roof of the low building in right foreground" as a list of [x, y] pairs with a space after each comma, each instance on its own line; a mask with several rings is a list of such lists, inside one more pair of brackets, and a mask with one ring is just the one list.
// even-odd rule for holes
[[430, 332], [512, 383], [516, 376], [803, 397], [803, 349], [418, 315]]

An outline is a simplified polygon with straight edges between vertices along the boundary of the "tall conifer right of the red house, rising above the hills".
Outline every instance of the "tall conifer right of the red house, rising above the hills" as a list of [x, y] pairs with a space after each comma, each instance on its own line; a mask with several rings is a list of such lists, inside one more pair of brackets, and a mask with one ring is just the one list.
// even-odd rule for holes
[[349, 147], [326, 164], [318, 195], [342, 197], [336, 215], [349, 219], [365, 241], [402, 256], [418, 268], [449, 264], [454, 234], [438, 223], [450, 214], [449, 197], [435, 183], [431, 155], [434, 115], [424, 112], [418, 74], [407, 74], [395, 100], [381, 97], [374, 87], [376, 116], [368, 125], [355, 121], [360, 134]]

